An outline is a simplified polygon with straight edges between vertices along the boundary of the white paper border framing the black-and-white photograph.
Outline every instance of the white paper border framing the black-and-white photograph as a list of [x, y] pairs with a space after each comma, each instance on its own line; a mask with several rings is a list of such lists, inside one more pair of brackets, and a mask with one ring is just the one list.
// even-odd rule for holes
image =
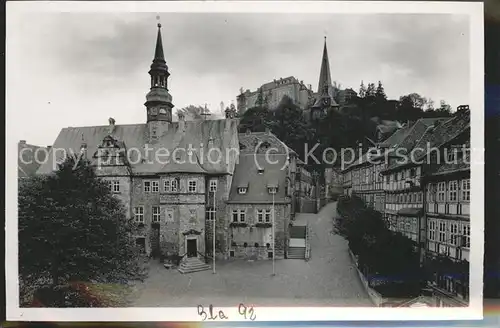
[[[244, 12], [244, 13], [413, 13], [459, 14], [469, 16], [470, 28], [470, 108], [471, 108], [471, 251], [470, 302], [466, 308], [355, 308], [355, 307], [266, 307], [258, 308], [257, 321], [360, 321], [360, 320], [477, 320], [483, 318], [484, 249], [484, 27], [481, 2], [392, 2], [392, 1], [22, 1], [8, 2], [6, 110], [9, 104], [9, 20], [26, 12]], [[9, 106], [11, 105], [11, 106]], [[7, 320], [12, 321], [200, 321], [196, 305], [192, 308], [20, 308], [18, 285], [17, 226], [17, 143], [7, 122], [6, 140], [6, 247], [5, 273]], [[10, 133], [9, 133], [10, 132]], [[215, 305], [215, 304], [214, 304]], [[244, 320], [236, 308], [220, 308], [230, 321]]]

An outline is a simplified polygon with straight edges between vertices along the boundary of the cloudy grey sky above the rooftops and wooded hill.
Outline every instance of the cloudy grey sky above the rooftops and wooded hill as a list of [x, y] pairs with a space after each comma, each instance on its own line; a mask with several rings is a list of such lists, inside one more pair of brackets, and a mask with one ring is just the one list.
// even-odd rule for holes
[[[50, 145], [67, 126], [143, 123], [157, 14], [9, 16], [7, 124]], [[295, 76], [317, 88], [323, 37], [332, 79], [356, 91], [381, 80], [389, 98], [417, 92], [469, 102], [469, 26], [444, 14], [160, 14], [176, 108], [235, 101]], [[15, 79], [12, 78], [15, 76]], [[175, 110], [174, 110], [175, 111]]]

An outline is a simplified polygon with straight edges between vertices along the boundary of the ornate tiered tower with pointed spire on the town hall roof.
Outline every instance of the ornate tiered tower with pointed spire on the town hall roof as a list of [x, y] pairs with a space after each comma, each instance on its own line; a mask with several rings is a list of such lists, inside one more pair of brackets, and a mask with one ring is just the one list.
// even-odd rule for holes
[[163, 54], [161, 38], [161, 24], [158, 24], [158, 37], [156, 39], [155, 56], [151, 69], [151, 89], [146, 95], [144, 105], [147, 109], [147, 123], [149, 125], [150, 139], [156, 139], [168, 129], [172, 122], [172, 96], [168, 92], [168, 66]]

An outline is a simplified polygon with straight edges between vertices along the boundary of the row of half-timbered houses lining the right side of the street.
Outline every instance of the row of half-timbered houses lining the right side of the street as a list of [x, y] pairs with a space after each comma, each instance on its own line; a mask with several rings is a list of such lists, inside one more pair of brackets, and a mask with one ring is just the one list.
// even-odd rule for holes
[[[437, 255], [469, 261], [468, 106], [459, 106], [451, 118], [401, 126], [351, 165], [330, 171], [344, 194], [359, 196], [383, 213], [389, 229], [415, 241], [422, 265]], [[452, 274], [430, 282], [438, 306], [467, 306], [463, 284]]]

